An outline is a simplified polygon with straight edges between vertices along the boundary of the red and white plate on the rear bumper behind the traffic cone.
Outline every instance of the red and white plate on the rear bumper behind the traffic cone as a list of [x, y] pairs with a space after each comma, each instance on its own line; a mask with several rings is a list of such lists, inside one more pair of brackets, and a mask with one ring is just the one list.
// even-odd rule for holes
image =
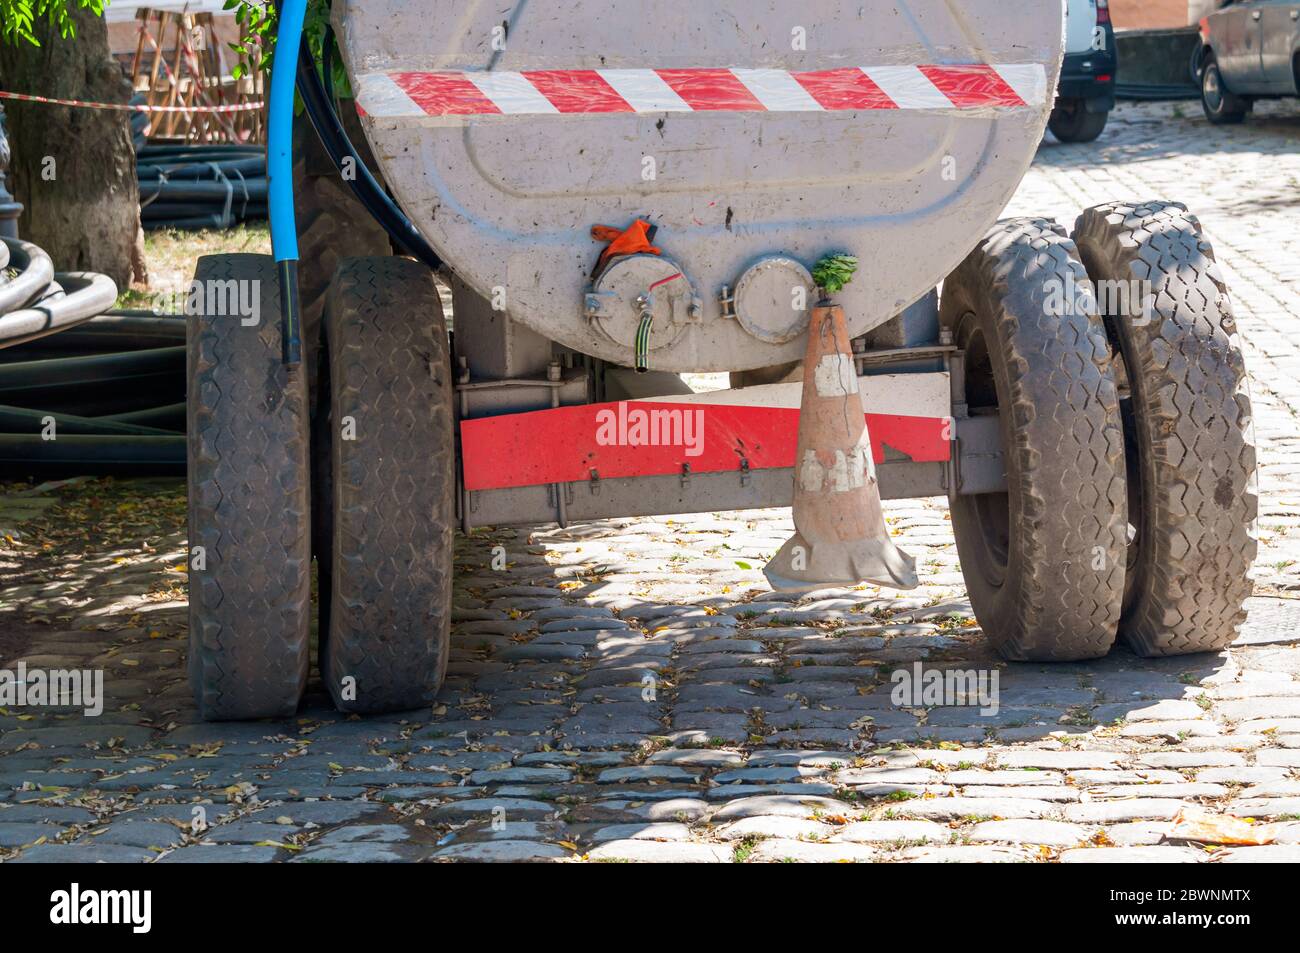
[[[946, 373], [859, 378], [871, 452], [949, 459]], [[559, 407], [460, 424], [468, 490], [794, 465], [802, 384]]]

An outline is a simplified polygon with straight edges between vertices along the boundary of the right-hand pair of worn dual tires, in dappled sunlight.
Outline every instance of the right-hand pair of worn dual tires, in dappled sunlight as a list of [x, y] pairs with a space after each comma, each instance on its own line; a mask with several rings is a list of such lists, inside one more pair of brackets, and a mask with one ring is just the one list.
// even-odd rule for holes
[[1222, 274], [1176, 203], [1001, 222], [949, 277], [1008, 490], [952, 497], [971, 605], [1017, 660], [1227, 646], [1254, 559], [1254, 433]]

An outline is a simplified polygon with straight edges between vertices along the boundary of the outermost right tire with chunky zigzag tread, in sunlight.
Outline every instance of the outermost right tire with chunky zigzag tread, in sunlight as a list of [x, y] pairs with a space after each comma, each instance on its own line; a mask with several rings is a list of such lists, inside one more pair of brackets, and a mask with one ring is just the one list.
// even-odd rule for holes
[[1106, 315], [1131, 397], [1139, 491], [1121, 634], [1141, 655], [1216, 651], [1236, 637], [1258, 543], [1254, 426], [1236, 320], [1214, 250], [1178, 203], [1084, 212], [1095, 282], [1150, 282], [1145, 324]]

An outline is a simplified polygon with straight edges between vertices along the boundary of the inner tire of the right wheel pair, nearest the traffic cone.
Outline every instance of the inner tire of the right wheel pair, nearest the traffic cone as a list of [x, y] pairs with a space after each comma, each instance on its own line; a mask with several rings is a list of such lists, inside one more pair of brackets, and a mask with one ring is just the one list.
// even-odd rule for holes
[[[1052, 289], [1072, 295], [1053, 308]], [[1115, 640], [1123, 434], [1093, 311], [1074, 243], [1041, 218], [1000, 222], [944, 283], [966, 400], [996, 400], [1008, 477], [1005, 494], [952, 495], [953, 532], [975, 616], [1011, 660], [1098, 658]]]

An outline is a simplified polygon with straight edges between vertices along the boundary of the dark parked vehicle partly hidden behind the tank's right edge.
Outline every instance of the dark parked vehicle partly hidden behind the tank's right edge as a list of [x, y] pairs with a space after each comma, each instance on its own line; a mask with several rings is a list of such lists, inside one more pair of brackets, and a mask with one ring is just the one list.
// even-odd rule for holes
[[1048, 127], [1061, 142], [1092, 142], [1115, 108], [1115, 30], [1110, 0], [1069, 0], [1066, 53]]

